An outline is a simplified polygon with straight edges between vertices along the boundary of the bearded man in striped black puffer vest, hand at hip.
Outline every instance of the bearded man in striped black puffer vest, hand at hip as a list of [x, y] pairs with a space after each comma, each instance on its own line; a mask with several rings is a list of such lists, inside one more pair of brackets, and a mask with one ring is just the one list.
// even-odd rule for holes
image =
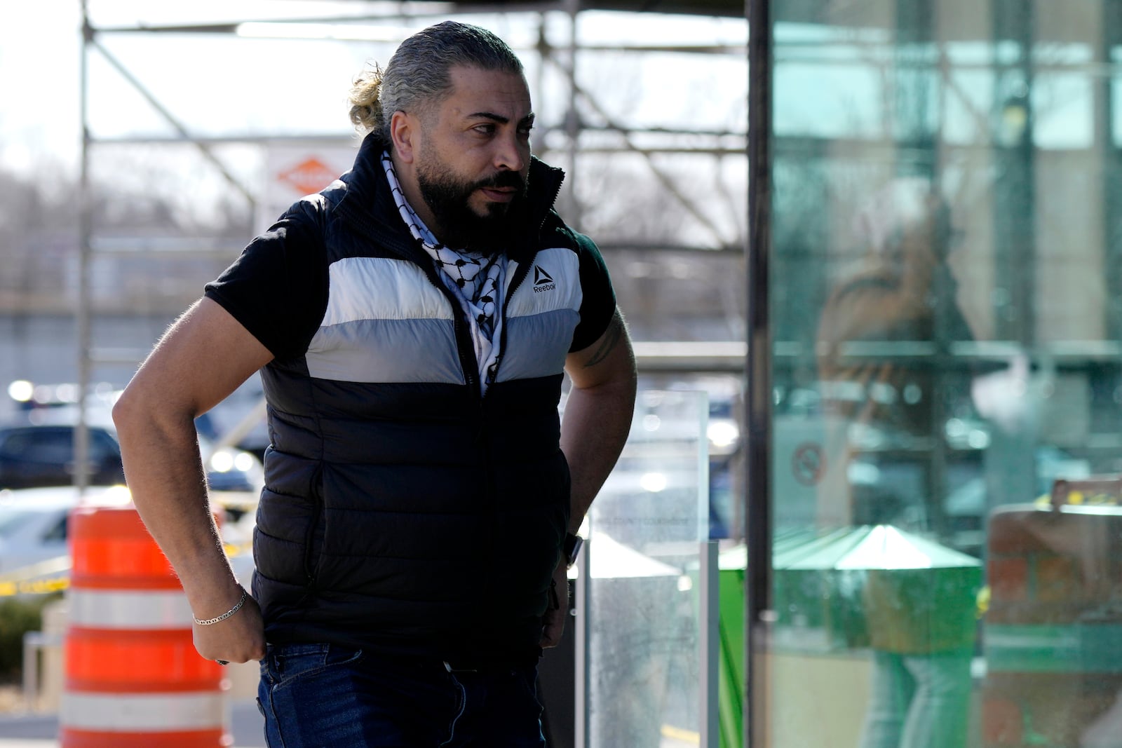
[[[199, 652], [261, 659], [270, 746], [544, 746], [536, 659], [631, 424], [631, 344], [596, 247], [552, 211], [562, 174], [531, 157], [502, 40], [425, 29], [352, 102], [353, 169], [250, 243], [118, 401], [128, 483]], [[259, 369], [247, 597], [192, 422]]]

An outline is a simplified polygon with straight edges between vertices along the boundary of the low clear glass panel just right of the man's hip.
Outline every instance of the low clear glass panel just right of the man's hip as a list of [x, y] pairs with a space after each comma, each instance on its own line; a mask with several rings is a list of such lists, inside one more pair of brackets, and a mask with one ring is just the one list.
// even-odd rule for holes
[[641, 391], [586, 519], [590, 746], [697, 745], [707, 418], [703, 393]]

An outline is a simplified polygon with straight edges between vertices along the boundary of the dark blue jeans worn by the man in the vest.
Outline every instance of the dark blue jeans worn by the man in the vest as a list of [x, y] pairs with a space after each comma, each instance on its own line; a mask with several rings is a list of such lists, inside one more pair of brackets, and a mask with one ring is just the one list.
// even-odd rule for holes
[[257, 703], [269, 748], [545, 748], [536, 677], [293, 644], [268, 648]]

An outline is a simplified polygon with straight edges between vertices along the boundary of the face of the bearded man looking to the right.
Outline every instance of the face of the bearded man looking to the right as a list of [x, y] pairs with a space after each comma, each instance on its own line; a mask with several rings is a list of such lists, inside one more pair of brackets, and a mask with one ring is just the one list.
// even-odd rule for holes
[[526, 192], [530, 91], [511, 73], [453, 67], [450, 77], [452, 93], [423, 116], [417, 183], [442, 242], [493, 251]]

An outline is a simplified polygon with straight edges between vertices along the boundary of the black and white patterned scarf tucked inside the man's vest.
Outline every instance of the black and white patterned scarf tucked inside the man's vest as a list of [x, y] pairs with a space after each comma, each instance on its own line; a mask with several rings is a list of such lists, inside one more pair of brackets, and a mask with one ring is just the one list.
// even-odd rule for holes
[[498, 310], [502, 308], [503, 302], [506, 255], [496, 252], [487, 257], [482, 252], [468, 252], [441, 244], [405, 200], [405, 193], [394, 170], [394, 161], [386, 151], [381, 154], [381, 165], [386, 169], [386, 179], [394, 193], [394, 202], [402, 220], [405, 221], [413, 238], [442, 270], [444, 285], [460, 299], [460, 305], [471, 323], [471, 338], [475, 342], [476, 360], [479, 362], [480, 388], [486, 391], [487, 385], [494, 381], [498, 364], [503, 326]]

